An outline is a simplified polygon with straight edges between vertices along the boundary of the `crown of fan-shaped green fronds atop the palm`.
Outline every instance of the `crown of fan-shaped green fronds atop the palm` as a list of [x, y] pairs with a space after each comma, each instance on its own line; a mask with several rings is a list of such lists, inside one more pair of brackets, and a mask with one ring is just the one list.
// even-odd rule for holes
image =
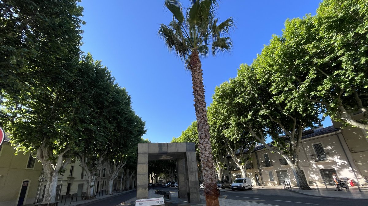
[[231, 50], [232, 41], [226, 37], [234, 27], [232, 17], [219, 22], [216, 16], [217, 3], [214, 0], [191, 1], [184, 17], [178, 0], [166, 0], [165, 7], [173, 14], [169, 25], [161, 24], [158, 34], [170, 51], [174, 51], [190, 68], [191, 53], [196, 50], [206, 57], [211, 45], [212, 54]]

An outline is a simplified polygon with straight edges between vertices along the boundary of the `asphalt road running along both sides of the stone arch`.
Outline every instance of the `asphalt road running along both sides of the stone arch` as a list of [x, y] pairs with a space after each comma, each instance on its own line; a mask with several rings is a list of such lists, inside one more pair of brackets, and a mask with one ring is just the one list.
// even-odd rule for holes
[[[153, 189], [153, 188], [150, 188]], [[155, 187], [159, 189], [159, 187]], [[177, 192], [177, 188], [164, 188], [167, 191]], [[199, 192], [203, 194], [203, 189]], [[220, 189], [220, 197], [225, 199], [241, 200], [244, 202], [257, 202], [274, 206], [366, 206], [365, 199], [336, 199], [336, 198], [321, 198], [316, 196], [308, 196], [295, 193], [284, 189], [252, 189], [246, 191], [231, 191], [229, 189]], [[118, 196], [104, 199], [100, 202], [91, 202], [83, 206], [122, 206], [121, 203], [131, 198], [134, 198], [136, 191], [130, 191]], [[125, 204], [126, 205], [126, 204]], [[130, 205], [130, 204], [129, 204]], [[131, 204], [134, 205], [134, 204]]]

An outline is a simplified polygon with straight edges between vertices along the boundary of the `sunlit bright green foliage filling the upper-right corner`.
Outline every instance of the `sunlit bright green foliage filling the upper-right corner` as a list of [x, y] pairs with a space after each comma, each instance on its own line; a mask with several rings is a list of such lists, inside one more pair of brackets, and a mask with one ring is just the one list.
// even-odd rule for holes
[[[262, 53], [279, 98], [314, 102], [345, 125], [368, 129], [368, 1], [325, 0], [315, 16], [286, 21]], [[356, 115], [360, 113], [359, 115]]]

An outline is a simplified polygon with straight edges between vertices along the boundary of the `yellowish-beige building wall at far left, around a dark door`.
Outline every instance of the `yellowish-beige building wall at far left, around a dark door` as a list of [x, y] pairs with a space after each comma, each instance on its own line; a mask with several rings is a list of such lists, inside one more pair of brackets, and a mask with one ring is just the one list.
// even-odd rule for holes
[[24, 181], [28, 181], [23, 205], [35, 202], [42, 165], [35, 160], [27, 168], [30, 153], [14, 155], [14, 147], [4, 142], [0, 150], [0, 206], [16, 206]]

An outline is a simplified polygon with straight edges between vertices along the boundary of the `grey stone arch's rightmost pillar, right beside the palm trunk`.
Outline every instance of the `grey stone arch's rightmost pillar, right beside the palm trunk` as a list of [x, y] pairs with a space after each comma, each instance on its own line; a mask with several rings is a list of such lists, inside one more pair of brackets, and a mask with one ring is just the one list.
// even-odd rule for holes
[[199, 196], [199, 182], [198, 182], [198, 162], [197, 156], [195, 155], [194, 143], [187, 143], [187, 174], [189, 183], [189, 197], [188, 202], [190, 203], [201, 203], [201, 198]]

